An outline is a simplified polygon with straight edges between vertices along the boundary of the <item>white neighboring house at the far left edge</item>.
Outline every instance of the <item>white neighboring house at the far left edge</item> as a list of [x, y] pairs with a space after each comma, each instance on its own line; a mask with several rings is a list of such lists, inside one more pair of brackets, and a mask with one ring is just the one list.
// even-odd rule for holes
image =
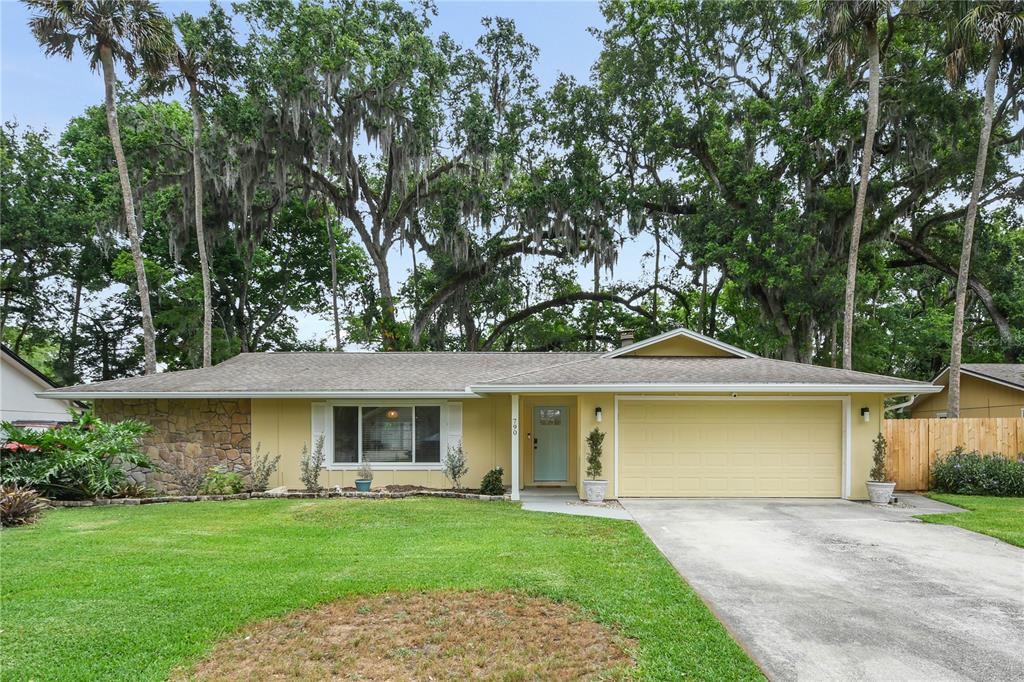
[[51, 427], [69, 421], [71, 400], [37, 397], [56, 384], [4, 344], [0, 360], [0, 421], [26, 427]]

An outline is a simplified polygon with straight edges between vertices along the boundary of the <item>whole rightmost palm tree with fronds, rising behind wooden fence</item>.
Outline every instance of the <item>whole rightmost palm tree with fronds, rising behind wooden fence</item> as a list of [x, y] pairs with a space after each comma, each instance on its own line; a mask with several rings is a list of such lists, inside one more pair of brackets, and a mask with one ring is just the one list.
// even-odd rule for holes
[[974, 166], [974, 184], [964, 216], [964, 243], [961, 247], [959, 269], [956, 273], [956, 307], [953, 311], [953, 333], [949, 353], [950, 417], [959, 417], [961, 359], [964, 352], [964, 317], [967, 309], [967, 287], [971, 274], [971, 254], [974, 250], [974, 223], [978, 217], [978, 201], [985, 183], [988, 145], [992, 138], [995, 109], [995, 83], [999, 68], [1013, 50], [1024, 49], [1024, 2], [1019, 0], [987, 0], [970, 6], [956, 22], [950, 34], [952, 49], [946, 59], [946, 75], [961, 81], [969, 70], [969, 60], [978, 39], [988, 48], [985, 70], [985, 102], [982, 109], [978, 157]]

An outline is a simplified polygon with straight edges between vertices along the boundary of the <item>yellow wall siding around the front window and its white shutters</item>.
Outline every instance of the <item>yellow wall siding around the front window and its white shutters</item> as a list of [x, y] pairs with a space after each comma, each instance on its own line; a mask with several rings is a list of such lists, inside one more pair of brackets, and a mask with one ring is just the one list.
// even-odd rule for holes
[[[299, 478], [299, 461], [302, 447], [309, 446], [312, 433], [312, 400], [300, 398], [254, 398], [252, 408], [253, 443], [261, 452], [281, 454], [278, 471], [271, 486], [302, 487]], [[460, 400], [463, 403], [463, 450], [469, 462], [469, 473], [464, 484], [476, 487], [488, 470], [502, 467], [506, 484], [511, 480], [512, 403], [507, 395]], [[321, 484], [350, 486], [355, 481], [355, 471], [325, 469]], [[378, 469], [374, 473], [374, 487], [383, 485], [426, 485], [449, 487], [444, 474], [436, 469]]]

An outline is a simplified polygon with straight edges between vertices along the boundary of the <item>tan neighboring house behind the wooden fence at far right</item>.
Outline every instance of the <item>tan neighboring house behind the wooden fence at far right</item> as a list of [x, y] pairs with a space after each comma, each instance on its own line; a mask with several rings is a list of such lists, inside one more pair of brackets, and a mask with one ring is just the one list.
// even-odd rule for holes
[[[912, 419], [948, 416], [949, 368], [933, 381], [940, 392], [919, 395]], [[969, 363], [961, 366], [961, 417], [1024, 417], [1024, 365]]]

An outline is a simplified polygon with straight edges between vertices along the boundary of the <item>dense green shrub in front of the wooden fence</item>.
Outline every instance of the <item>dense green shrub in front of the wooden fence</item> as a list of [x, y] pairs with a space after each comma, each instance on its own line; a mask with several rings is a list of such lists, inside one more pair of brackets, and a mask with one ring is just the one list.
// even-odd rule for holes
[[1024, 454], [1010, 459], [956, 447], [932, 464], [932, 489], [959, 495], [1024, 497]]

